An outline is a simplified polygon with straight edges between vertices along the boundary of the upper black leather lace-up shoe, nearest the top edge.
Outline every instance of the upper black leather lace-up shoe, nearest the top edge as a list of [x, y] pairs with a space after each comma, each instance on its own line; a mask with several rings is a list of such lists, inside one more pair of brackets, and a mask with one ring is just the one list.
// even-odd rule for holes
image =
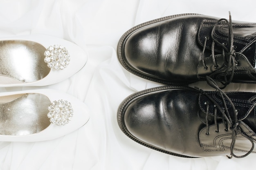
[[190, 84], [208, 75], [256, 83], [256, 24], [198, 14], [172, 15], [133, 27], [120, 38], [119, 62], [164, 84]]

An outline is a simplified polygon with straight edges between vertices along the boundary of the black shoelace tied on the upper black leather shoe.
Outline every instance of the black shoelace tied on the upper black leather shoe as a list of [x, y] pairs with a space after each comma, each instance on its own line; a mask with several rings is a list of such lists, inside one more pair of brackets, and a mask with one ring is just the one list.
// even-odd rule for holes
[[[229, 41], [228, 41], [229, 44], [228, 44], [228, 46], [229, 46], [229, 49], [224, 44], [220, 43], [218, 40], [216, 40], [213, 37], [213, 34], [214, 34], [214, 31], [216, 30], [216, 27], [222, 21], [227, 22], [227, 25], [228, 25], [228, 30], [229, 30], [229, 38], [228, 38], [229, 39]], [[238, 65], [238, 62], [236, 61], [236, 51], [234, 50], [234, 45], [233, 45], [234, 35], [233, 35], [232, 21], [231, 21], [230, 12], [229, 12], [229, 21], [225, 18], [222, 18], [222, 19], [218, 20], [216, 22], [216, 24], [213, 26], [213, 29], [211, 31], [211, 38], [213, 40], [212, 45], [211, 45], [211, 57], [212, 57], [212, 60], [213, 60], [214, 67], [215, 68], [219, 67], [216, 60], [215, 60], [215, 54], [214, 54], [215, 44], [218, 44], [219, 46], [222, 47], [222, 57], [223, 57], [224, 61], [227, 62], [226, 63], [227, 67], [225, 68], [225, 73], [224, 73], [224, 82], [221, 82], [224, 86], [220, 87], [221, 89], [223, 89], [229, 83], [231, 83], [231, 81], [234, 77], [235, 66]], [[202, 64], [204, 66], [204, 69], [208, 68], [205, 64], [205, 61], [204, 61], [204, 51], [205, 51], [205, 48], [206, 48], [207, 40], [209, 40], [208, 37], [206, 37], [205, 40], [204, 40], [204, 47], [203, 47], [203, 51], [202, 51]], [[231, 74], [229, 79], [227, 79], [228, 74]], [[211, 75], [210, 75], [210, 77], [211, 77]]]

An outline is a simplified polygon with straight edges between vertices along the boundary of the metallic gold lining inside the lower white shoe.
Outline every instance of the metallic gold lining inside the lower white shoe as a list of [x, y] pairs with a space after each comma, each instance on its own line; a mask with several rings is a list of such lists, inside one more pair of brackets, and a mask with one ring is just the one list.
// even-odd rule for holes
[[0, 97], [0, 134], [31, 135], [50, 125], [48, 97], [38, 93]]

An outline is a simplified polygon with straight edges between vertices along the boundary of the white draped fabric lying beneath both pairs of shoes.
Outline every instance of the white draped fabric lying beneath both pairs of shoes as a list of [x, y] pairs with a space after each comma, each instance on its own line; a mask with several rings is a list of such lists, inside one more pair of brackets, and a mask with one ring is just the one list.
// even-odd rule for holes
[[[0, 38], [47, 34], [64, 38], [88, 53], [88, 63], [51, 86], [84, 101], [91, 109], [85, 126], [42, 142], [0, 142], [0, 170], [222, 170], [251, 169], [255, 154], [243, 159], [180, 158], [141, 146], [119, 130], [116, 114], [128, 95], [161, 86], [128, 73], [116, 46], [131, 27], [180, 13], [200, 13], [256, 22], [254, 0], [0, 0]], [[191, 84], [211, 90], [205, 82]], [[230, 84], [225, 91], [255, 91], [255, 84]], [[1, 91], [28, 89], [1, 88]], [[36, 87], [30, 87], [36, 88]]]

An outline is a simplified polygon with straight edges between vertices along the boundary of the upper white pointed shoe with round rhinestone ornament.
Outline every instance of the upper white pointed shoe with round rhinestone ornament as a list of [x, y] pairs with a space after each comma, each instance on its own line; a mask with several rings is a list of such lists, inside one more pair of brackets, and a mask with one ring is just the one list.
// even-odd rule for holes
[[76, 44], [47, 35], [0, 39], [0, 87], [47, 86], [78, 72], [87, 54]]

